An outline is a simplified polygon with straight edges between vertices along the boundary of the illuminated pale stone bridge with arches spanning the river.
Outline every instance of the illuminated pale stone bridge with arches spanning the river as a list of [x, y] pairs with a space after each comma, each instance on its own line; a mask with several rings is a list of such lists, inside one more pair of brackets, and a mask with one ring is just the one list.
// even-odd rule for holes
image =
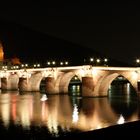
[[82, 96], [107, 96], [111, 82], [118, 76], [126, 78], [140, 93], [140, 69], [138, 67], [98, 67], [91, 65], [72, 67], [47, 67], [19, 70], [1, 70], [1, 90], [21, 92], [40, 91], [45, 80], [48, 94], [67, 94], [70, 80], [77, 76], [81, 81]]

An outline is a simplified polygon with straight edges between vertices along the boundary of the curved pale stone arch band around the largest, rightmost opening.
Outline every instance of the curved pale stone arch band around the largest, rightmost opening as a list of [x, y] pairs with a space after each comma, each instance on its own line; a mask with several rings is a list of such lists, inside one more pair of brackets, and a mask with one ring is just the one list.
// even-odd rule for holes
[[111, 73], [111, 74], [108, 74], [108, 75], [102, 77], [98, 81], [98, 83], [97, 83], [97, 85], [95, 87], [96, 94], [98, 94], [98, 96], [107, 96], [108, 95], [109, 85], [118, 76], [123, 76], [124, 78], [126, 78], [129, 81], [129, 83], [132, 85], [132, 87], [135, 89], [135, 91], [137, 91], [136, 81], [134, 81], [132, 78], [130, 78], [130, 76], [128, 76], [128, 73], [116, 73], [115, 72], [115, 73]]

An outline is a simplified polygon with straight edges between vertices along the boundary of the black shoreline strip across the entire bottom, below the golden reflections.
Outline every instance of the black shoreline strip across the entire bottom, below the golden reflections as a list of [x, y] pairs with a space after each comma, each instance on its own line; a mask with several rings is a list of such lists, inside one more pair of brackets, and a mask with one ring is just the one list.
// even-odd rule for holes
[[58, 137], [53, 137], [48, 134], [45, 127], [37, 128], [31, 127], [30, 130], [23, 131], [22, 128], [9, 127], [7, 130], [0, 129], [0, 137], [2, 139], [20, 139], [20, 140], [100, 140], [100, 139], [122, 139], [122, 138], [136, 138], [140, 135], [140, 121], [128, 122], [109, 126], [102, 129], [97, 129], [88, 132], [67, 133]]

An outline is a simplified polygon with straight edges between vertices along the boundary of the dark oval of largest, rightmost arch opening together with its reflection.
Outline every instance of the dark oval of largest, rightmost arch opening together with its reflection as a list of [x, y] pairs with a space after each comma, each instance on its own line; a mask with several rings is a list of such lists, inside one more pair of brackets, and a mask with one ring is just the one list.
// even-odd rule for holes
[[135, 88], [128, 79], [119, 75], [112, 81], [109, 90], [111, 108], [114, 112], [121, 114], [126, 120], [129, 120], [138, 109], [137, 102], [132, 100], [135, 97], [137, 98]]

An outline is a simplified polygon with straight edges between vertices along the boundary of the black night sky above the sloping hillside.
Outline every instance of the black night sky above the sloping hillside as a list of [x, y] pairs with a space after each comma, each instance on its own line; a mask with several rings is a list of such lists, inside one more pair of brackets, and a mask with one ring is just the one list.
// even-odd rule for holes
[[124, 62], [140, 57], [140, 8], [136, 2], [16, 5], [1, 5], [0, 17]]

